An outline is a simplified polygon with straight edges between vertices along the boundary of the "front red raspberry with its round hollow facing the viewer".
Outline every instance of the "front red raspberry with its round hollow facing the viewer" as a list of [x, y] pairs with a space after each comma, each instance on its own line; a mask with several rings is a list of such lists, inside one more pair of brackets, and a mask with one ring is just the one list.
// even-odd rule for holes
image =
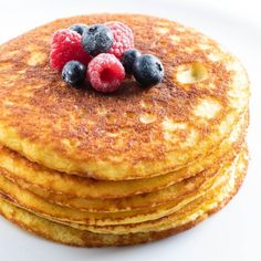
[[119, 88], [125, 71], [113, 54], [101, 53], [90, 62], [87, 77], [95, 90], [109, 93]]

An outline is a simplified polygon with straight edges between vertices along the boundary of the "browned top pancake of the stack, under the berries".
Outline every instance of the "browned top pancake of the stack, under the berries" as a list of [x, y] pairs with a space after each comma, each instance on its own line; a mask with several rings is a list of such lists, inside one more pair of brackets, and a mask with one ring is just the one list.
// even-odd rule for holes
[[[130, 79], [104, 95], [69, 87], [49, 65], [52, 33], [74, 23], [121, 21], [135, 46], [157, 55], [161, 84]], [[239, 61], [206, 35], [145, 15], [61, 19], [0, 46], [0, 142], [32, 161], [96, 179], [174, 171], [211, 153], [246, 109]]]

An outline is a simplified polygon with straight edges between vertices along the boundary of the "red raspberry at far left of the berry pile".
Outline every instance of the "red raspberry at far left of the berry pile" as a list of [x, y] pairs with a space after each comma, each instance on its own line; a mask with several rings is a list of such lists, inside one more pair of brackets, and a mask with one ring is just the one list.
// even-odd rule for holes
[[82, 36], [72, 30], [61, 29], [53, 34], [50, 64], [53, 69], [62, 71], [65, 63], [76, 60], [87, 65], [92, 60], [81, 43]]

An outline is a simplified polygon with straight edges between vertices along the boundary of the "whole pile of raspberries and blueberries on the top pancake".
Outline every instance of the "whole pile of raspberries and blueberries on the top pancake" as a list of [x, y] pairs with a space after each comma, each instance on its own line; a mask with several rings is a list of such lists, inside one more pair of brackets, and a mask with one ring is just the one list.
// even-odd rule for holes
[[87, 80], [100, 92], [119, 88], [125, 73], [143, 87], [164, 77], [161, 62], [134, 49], [133, 31], [121, 22], [73, 24], [53, 34], [50, 64], [62, 72], [64, 82], [83, 86]]

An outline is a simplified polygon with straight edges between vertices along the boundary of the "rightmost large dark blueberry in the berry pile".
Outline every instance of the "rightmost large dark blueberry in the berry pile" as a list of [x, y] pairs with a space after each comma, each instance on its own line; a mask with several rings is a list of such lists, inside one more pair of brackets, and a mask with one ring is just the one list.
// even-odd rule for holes
[[134, 62], [133, 75], [142, 86], [149, 87], [163, 80], [164, 66], [156, 56], [144, 54]]

